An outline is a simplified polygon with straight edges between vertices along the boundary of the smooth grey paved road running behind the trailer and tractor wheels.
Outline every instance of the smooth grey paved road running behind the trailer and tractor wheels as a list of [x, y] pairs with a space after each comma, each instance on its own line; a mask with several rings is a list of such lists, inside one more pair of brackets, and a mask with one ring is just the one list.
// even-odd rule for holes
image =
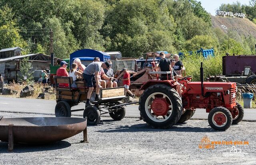
[[[44, 113], [54, 114], [56, 101], [44, 99], [27, 99], [27, 98], [13, 98], [0, 96], [0, 112], [29, 112], [29, 113]], [[84, 103], [72, 107], [72, 109], [82, 109]], [[244, 120], [256, 121], [256, 109], [244, 109]], [[83, 115], [83, 111], [72, 112], [73, 115]], [[108, 116], [108, 114], [107, 114]], [[126, 117], [139, 117], [138, 105], [127, 105]], [[197, 109], [192, 118], [207, 119], [208, 113], [205, 109]]]

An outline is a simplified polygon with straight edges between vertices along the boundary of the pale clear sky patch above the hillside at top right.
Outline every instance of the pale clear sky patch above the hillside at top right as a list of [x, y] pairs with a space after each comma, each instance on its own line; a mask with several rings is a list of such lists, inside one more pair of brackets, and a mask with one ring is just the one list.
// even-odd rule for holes
[[[232, 4], [236, 0], [197, 0], [200, 1], [203, 8], [209, 12], [211, 15], [215, 16], [215, 10], [220, 7], [221, 4]], [[249, 0], [238, 0], [241, 4], [249, 5]], [[228, 11], [226, 11], [228, 12]]]

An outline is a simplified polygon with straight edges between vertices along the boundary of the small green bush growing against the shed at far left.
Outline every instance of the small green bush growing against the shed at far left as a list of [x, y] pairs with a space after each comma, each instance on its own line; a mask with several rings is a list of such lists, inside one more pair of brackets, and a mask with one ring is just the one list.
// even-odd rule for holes
[[20, 79], [24, 82], [26, 82], [27, 84], [32, 84], [34, 82], [34, 77], [33, 77], [33, 74], [34, 72], [32, 72], [32, 64], [31, 62], [28, 61], [29, 58], [23, 58], [21, 61], [20, 61], [20, 73], [21, 73], [21, 76], [20, 76]]

